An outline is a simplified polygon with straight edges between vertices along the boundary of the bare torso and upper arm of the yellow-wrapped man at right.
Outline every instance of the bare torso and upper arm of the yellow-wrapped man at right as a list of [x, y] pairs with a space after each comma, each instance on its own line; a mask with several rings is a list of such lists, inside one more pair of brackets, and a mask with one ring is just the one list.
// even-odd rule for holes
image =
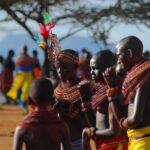
[[150, 126], [150, 80], [136, 91], [134, 101], [128, 105], [128, 118], [138, 122], [133, 128]]

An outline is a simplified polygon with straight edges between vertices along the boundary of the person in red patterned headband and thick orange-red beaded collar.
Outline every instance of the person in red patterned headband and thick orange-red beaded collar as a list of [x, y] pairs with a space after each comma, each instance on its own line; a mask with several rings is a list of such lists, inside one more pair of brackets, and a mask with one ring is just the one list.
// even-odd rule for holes
[[73, 150], [82, 149], [82, 129], [88, 126], [81, 111], [81, 95], [78, 89], [81, 79], [77, 77], [78, 63], [78, 53], [71, 49], [60, 51], [56, 56], [55, 65], [60, 83], [54, 91], [57, 101], [54, 110], [69, 126]]

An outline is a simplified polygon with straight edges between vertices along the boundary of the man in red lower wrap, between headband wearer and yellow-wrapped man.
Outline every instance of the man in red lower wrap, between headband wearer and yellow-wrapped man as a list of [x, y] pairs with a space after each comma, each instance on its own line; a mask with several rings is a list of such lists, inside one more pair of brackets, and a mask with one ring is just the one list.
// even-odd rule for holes
[[[91, 75], [95, 80], [95, 86], [91, 89], [91, 107], [96, 113], [96, 127], [85, 128], [83, 130], [83, 148], [90, 150], [93, 148], [90, 139], [94, 139], [95, 147], [100, 150], [117, 150], [122, 146], [126, 149], [125, 137], [121, 135], [121, 130], [117, 124], [117, 118], [113, 114], [113, 108], [109, 104], [108, 95], [106, 93], [108, 85], [103, 78], [103, 72], [107, 67], [114, 66], [116, 62], [115, 55], [109, 50], [102, 50], [96, 53], [91, 61]], [[85, 102], [85, 110], [88, 111], [89, 102]], [[120, 105], [119, 101], [117, 102]], [[91, 145], [91, 146], [90, 146]]]

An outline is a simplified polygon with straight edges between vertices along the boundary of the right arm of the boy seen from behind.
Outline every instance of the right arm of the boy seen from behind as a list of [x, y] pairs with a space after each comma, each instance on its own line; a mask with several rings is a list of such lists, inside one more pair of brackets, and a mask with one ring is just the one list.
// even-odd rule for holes
[[68, 126], [64, 123], [64, 127], [62, 129], [62, 146], [64, 150], [71, 150], [71, 139], [70, 139], [70, 131]]

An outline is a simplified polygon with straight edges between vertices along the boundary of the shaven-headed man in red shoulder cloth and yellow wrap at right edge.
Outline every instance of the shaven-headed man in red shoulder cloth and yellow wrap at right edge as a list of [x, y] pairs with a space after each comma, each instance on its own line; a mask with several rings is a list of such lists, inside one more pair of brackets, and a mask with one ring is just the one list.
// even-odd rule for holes
[[135, 36], [123, 38], [116, 46], [117, 64], [127, 72], [122, 93], [128, 115], [120, 126], [127, 130], [129, 150], [150, 149], [150, 61], [142, 54], [143, 44]]

